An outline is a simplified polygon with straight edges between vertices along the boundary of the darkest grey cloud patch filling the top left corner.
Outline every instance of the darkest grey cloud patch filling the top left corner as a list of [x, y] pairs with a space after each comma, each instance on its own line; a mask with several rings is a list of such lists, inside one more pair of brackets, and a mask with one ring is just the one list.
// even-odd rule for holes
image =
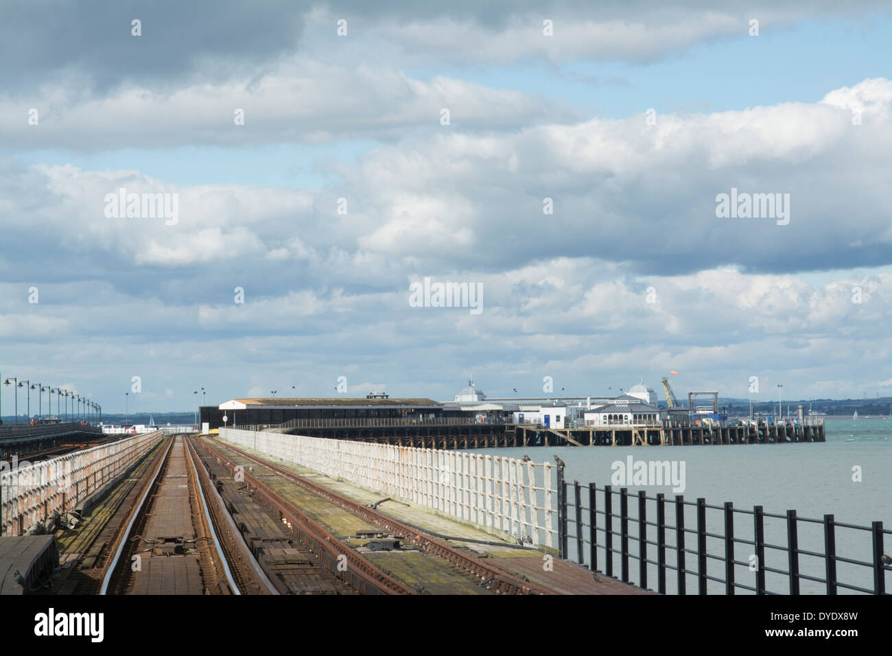
[[[272, 0], [4, 3], [0, 94], [69, 80], [96, 93], [124, 82], [164, 88], [211, 64], [226, 77], [292, 51], [297, 10]], [[141, 37], [131, 35], [134, 19]]]

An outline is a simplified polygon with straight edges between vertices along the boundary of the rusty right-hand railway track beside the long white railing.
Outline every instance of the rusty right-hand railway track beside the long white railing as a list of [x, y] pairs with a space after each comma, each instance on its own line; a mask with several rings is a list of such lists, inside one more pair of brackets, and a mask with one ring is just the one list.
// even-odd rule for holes
[[[232, 461], [232, 458], [227, 457], [226, 453], [222, 453], [209, 440], [202, 439], [201, 444], [202, 448], [210, 453], [219, 465], [226, 467], [230, 475], [235, 476], [237, 465]], [[324, 487], [316, 485], [307, 478], [299, 477], [286, 469], [277, 467], [271, 462], [256, 458], [252, 454], [246, 453], [231, 444], [226, 444], [225, 449], [227, 452], [237, 453], [245, 461], [257, 464], [259, 468], [268, 469], [276, 476], [284, 477], [296, 486], [300, 486], [303, 490], [334, 504], [338, 508], [343, 509], [343, 511], [347, 511], [355, 518], [380, 527], [385, 534], [401, 536], [403, 542], [408, 541], [422, 552], [446, 561], [452, 568], [458, 569], [467, 576], [480, 581], [480, 585], [485, 585], [486, 589], [491, 592], [497, 594], [553, 594], [553, 591], [541, 585], [533, 585], [529, 581], [508, 574], [502, 569], [465, 552], [461, 552], [449, 544], [445, 544], [442, 540], [436, 539], [422, 530], [387, 517], [381, 512], [353, 502], [340, 494], [335, 494]], [[243, 477], [244, 484], [250, 487], [253, 493], [262, 499], [268, 507], [281, 513], [281, 517], [292, 525], [296, 532], [310, 539], [323, 552], [326, 552], [330, 561], [349, 563], [352, 576], [359, 577], [366, 585], [374, 586], [383, 594], [417, 594], [420, 592], [417, 587], [410, 587], [394, 579], [383, 569], [377, 567], [372, 561], [363, 557], [359, 552], [335, 536], [331, 531], [326, 530], [325, 527], [322, 527], [317, 521], [310, 518], [308, 514], [301, 511], [293, 502], [285, 499], [282, 494], [278, 494], [272, 486], [268, 485], [268, 482], [263, 480], [264, 477], [256, 476], [250, 469], [238, 470], [237, 474], [239, 477]]]

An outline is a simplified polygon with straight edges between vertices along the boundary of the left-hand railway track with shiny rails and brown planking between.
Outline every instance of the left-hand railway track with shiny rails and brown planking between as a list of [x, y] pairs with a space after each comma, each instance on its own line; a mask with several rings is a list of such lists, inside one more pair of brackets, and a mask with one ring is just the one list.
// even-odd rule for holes
[[247, 564], [222, 547], [211, 517], [216, 501], [205, 496], [184, 436], [174, 437], [150, 476], [111, 547], [101, 594], [242, 594], [242, 587], [261, 592]]

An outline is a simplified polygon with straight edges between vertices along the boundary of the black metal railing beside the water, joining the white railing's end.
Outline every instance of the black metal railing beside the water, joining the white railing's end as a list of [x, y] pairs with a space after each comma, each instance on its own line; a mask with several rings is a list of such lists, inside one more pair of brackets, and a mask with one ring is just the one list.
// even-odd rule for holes
[[[667, 510], [673, 515], [670, 519]], [[718, 518], [715, 511], [721, 513]], [[693, 527], [688, 522], [691, 514]], [[750, 519], [747, 532], [752, 537], [743, 537], [735, 525], [749, 524]], [[767, 537], [766, 527], [772, 529]], [[805, 527], [814, 529], [808, 536], [809, 548], [800, 545]], [[838, 529], [853, 532], [843, 541], [845, 551], [838, 549]], [[643, 490], [630, 494], [625, 487], [571, 484], [561, 474], [558, 531], [563, 558], [642, 588], [651, 589], [656, 583], [660, 594], [888, 594], [886, 572], [892, 571], [887, 564], [892, 559], [883, 551], [884, 536], [892, 531], [881, 521], [867, 527], [838, 522], [830, 514], [810, 519], [796, 511], [766, 512], [762, 506], [750, 511], [734, 508], [731, 502], [721, 506], [703, 498], [690, 502], [682, 495], [667, 499], [665, 494], [648, 496]], [[785, 544], [776, 544], [782, 534]], [[859, 559], [858, 552], [865, 555]], [[744, 554], [746, 560], [740, 560]], [[766, 560], [766, 554], [772, 557]], [[807, 567], [805, 559], [811, 559]], [[638, 569], [634, 576], [633, 561]], [[849, 577], [840, 576], [840, 567]], [[667, 577], [674, 579], [674, 585]], [[780, 591], [779, 586], [787, 589]]]

